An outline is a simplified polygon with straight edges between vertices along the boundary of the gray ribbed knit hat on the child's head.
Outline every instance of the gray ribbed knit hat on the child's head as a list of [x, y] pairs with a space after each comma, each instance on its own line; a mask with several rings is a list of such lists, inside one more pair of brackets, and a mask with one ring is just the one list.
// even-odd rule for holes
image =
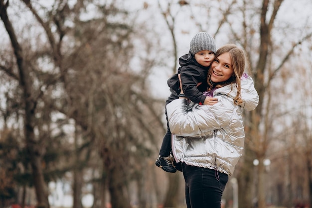
[[216, 42], [207, 32], [198, 32], [191, 40], [190, 51], [192, 55], [203, 50], [216, 53]]

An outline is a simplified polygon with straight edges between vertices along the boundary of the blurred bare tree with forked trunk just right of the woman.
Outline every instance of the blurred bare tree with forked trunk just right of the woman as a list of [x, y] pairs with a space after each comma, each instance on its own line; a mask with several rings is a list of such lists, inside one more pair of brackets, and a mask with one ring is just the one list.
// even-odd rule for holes
[[[259, 59], [255, 66], [254, 77], [255, 87], [259, 93], [259, 105], [255, 111], [252, 112], [250, 122], [253, 124], [250, 131], [251, 143], [247, 143], [247, 149], [251, 148], [256, 153], [256, 158], [259, 161], [258, 165], [258, 206], [259, 208], [266, 207], [265, 196], [265, 165], [264, 160], [268, 146], [270, 143], [270, 131], [272, 128], [270, 125], [273, 117], [269, 117], [270, 112], [270, 85], [273, 82], [275, 75], [281, 70], [286, 61], [289, 60], [290, 54], [294, 52], [296, 45], [300, 44], [302, 40], [298, 40], [296, 44], [284, 55], [281, 63], [277, 66], [270, 66], [269, 61], [271, 59], [272, 51], [274, 51], [274, 43], [272, 42], [272, 30], [274, 28], [274, 22], [276, 20], [277, 13], [281, 7], [283, 0], [275, 0], [272, 2], [273, 10], [269, 10], [269, 0], [263, 0], [261, 15], [260, 15], [260, 45], [259, 45]], [[268, 15], [269, 14], [269, 15]], [[269, 18], [268, 18], [269, 17]], [[268, 19], [267, 19], [268, 18]], [[309, 38], [311, 34], [308, 34], [305, 38]], [[274, 68], [275, 67], [275, 68]], [[273, 68], [273, 69], [272, 69]], [[263, 124], [263, 125], [262, 125]], [[263, 126], [263, 128], [261, 127]], [[262, 130], [261, 130], [262, 129]], [[246, 155], [247, 156], [247, 155]]]

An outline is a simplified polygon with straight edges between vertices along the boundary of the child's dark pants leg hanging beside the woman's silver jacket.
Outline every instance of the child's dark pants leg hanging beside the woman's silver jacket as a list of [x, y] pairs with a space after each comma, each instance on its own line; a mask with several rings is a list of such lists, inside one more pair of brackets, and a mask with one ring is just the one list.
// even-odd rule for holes
[[[171, 103], [171, 101], [178, 99], [178, 98], [179, 97], [177, 95], [174, 95], [173, 93], [171, 93], [171, 95], [166, 100], [165, 105]], [[162, 139], [161, 147], [159, 150], [160, 157], [169, 156], [170, 151], [171, 151], [171, 132], [170, 132], [169, 123], [168, 123], [167, 110], [165, 109], [164, 112], [166, 114], [166, 120], [167, 120], [167, 132], [164, 134], [163, 139]]]

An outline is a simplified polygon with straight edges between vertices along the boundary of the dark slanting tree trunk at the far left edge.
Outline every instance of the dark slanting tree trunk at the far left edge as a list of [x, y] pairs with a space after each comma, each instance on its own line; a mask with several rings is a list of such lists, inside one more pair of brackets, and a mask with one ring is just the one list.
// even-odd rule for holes
[[16, 64], [19, 73], [19, 85], [23, 91], [24, 101], [24, 133], [26, 149], [29, 154], [30, 165], [32, 168], [32, 177], [38, 203], [38, 208], [49, 208], [48, 191], [44, 181], [42, 171], [42, 160], [40, 146], [38, 145], [34, 134], [34, 120], [36, 101], [32, 97], [32, 81], [29, 76], [28, 68], [24, 63], [23, 52], [17, 41], [15, 31], [7, 16], [8, 1], [0, 0], [0, 17], [4, 23], [5, 29], [9, 35], [12, 48], [16, 57]]

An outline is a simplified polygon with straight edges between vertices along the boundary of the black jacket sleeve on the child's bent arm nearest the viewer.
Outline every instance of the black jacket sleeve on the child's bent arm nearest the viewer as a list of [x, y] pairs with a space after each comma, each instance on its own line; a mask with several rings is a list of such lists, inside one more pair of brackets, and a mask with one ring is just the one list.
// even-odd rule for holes
[[206, 98], [206, 96], [204, 96], [203, 93], [197, 89], [200, 77], [207, 77], [207, 75], [204, 75], [202, 72], [199, 72], [192, 67], [185, 67], [181, 69], [183, 93], [186, 98], [196, 104], [204, 103]]

